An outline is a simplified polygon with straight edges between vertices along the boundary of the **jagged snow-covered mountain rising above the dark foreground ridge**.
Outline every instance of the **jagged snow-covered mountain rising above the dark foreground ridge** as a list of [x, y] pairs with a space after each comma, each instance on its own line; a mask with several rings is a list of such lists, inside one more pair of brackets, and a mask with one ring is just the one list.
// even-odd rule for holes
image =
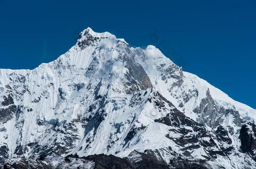
[[[145, 155], [169, 168], [256, 167], [256, 110], [157, 48], [87, 28], [34, 70], [0, 69], [0, 156]], [[254, 160], [253, 160], [254, 159]]]

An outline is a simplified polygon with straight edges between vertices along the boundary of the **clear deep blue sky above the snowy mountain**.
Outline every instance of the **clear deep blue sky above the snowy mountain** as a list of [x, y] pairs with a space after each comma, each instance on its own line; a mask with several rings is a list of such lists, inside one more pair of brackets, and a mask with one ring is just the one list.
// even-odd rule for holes
[[158, 45], [156, 32], [185, 59], [185, 71], [256, 108], [255, 0], [0, 0], [0, 68], [55, 60], [87, 27], [139, 47]]

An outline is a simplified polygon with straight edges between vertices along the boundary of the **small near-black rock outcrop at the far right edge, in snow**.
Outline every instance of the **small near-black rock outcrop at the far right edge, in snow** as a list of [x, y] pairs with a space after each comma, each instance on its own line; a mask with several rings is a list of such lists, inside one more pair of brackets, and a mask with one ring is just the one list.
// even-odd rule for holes
[[256, 126], [254, 122], [244, 124], [240, 129], [241, 150], [253, 156], [256, 161]]

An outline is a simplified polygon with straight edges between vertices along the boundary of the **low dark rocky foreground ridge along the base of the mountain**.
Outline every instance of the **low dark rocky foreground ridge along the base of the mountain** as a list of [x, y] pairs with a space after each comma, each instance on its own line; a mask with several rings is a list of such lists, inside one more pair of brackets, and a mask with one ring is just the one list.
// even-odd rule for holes
[[[52, 157], [40, 159], [9, 159], [0, 164], [3, 169], [209, 169], [204, 160], [188, 161], [180, 157], [172, 159], [166, 164], [159, 159], [152, 150], [144, 153], [133, 151], [128, 157], [119, 158], [113, 155], [91, 155], [78, 157], [70, 155], [61, 157], [54, 155], [57, 164], [52, 163]], [[219, 169], [224, 169], [219, 167]]]

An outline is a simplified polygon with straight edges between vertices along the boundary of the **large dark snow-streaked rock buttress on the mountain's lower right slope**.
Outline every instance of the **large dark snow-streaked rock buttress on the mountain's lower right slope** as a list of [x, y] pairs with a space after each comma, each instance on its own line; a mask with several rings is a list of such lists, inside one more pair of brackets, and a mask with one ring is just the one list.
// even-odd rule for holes
[[[204, 151], [207, 154], [205, 158], [211, 159], [216, 158], [217, 154], [225, 156], [225, 152], [230, 153], [231, 150], [233, 149], [233, 147], [227, 149], [223, 148], [223, 150], [219, 149], [217, 144], [214, 142], [214, 139], [212, 138], [211, 134], [208, 133], [208, 131], [202, 124], [199, 124], [196, 121], [193, 121], [192, 119], [186, 117], [177, 109], [176, 111], [167, 114], [162, 119], [155, 120], [155, 122], [163, 123], [167, 126], [176, 127], [175, 129], [171, 129], [170, 131], [176, 134], [180, 134], [181, 137], [172, 138], [168, 134], [166, 135], [166, 137], [174, 141], [179, 146], [184, 147], [182, 153], [183, 156], [190, 157], [191, 151], [203, 147]], [[188, 129], [188, 127], [191, 127], [191, 129]], [[227, 133], [224, 133], [223, 138], [221, 139], [223, 143], [225, 143], [225, 141], [230, 141], [228, 135], [225, 134]]]

